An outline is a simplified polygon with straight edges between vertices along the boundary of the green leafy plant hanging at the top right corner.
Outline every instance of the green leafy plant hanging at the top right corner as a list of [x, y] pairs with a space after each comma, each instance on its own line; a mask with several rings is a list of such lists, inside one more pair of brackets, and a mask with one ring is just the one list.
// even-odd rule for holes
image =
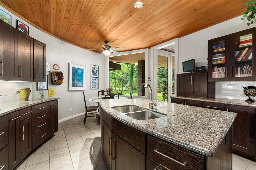
[[[247, 10], [244, 12], [243, 14], [243, 18], [241, 18], [241, 20], [244, 20], [243, 23], [245, 21], [248, 21], [247, 25], [249, 26], [250, 24], [253, 24], [253, 22], [255, 21], [255, 14], [256, 14], [256, 1], [252, 1], [250, 3], [250, 1], [245, 3], [247, 7]], [[242, 14], [243, 12], [241, 12]]]

